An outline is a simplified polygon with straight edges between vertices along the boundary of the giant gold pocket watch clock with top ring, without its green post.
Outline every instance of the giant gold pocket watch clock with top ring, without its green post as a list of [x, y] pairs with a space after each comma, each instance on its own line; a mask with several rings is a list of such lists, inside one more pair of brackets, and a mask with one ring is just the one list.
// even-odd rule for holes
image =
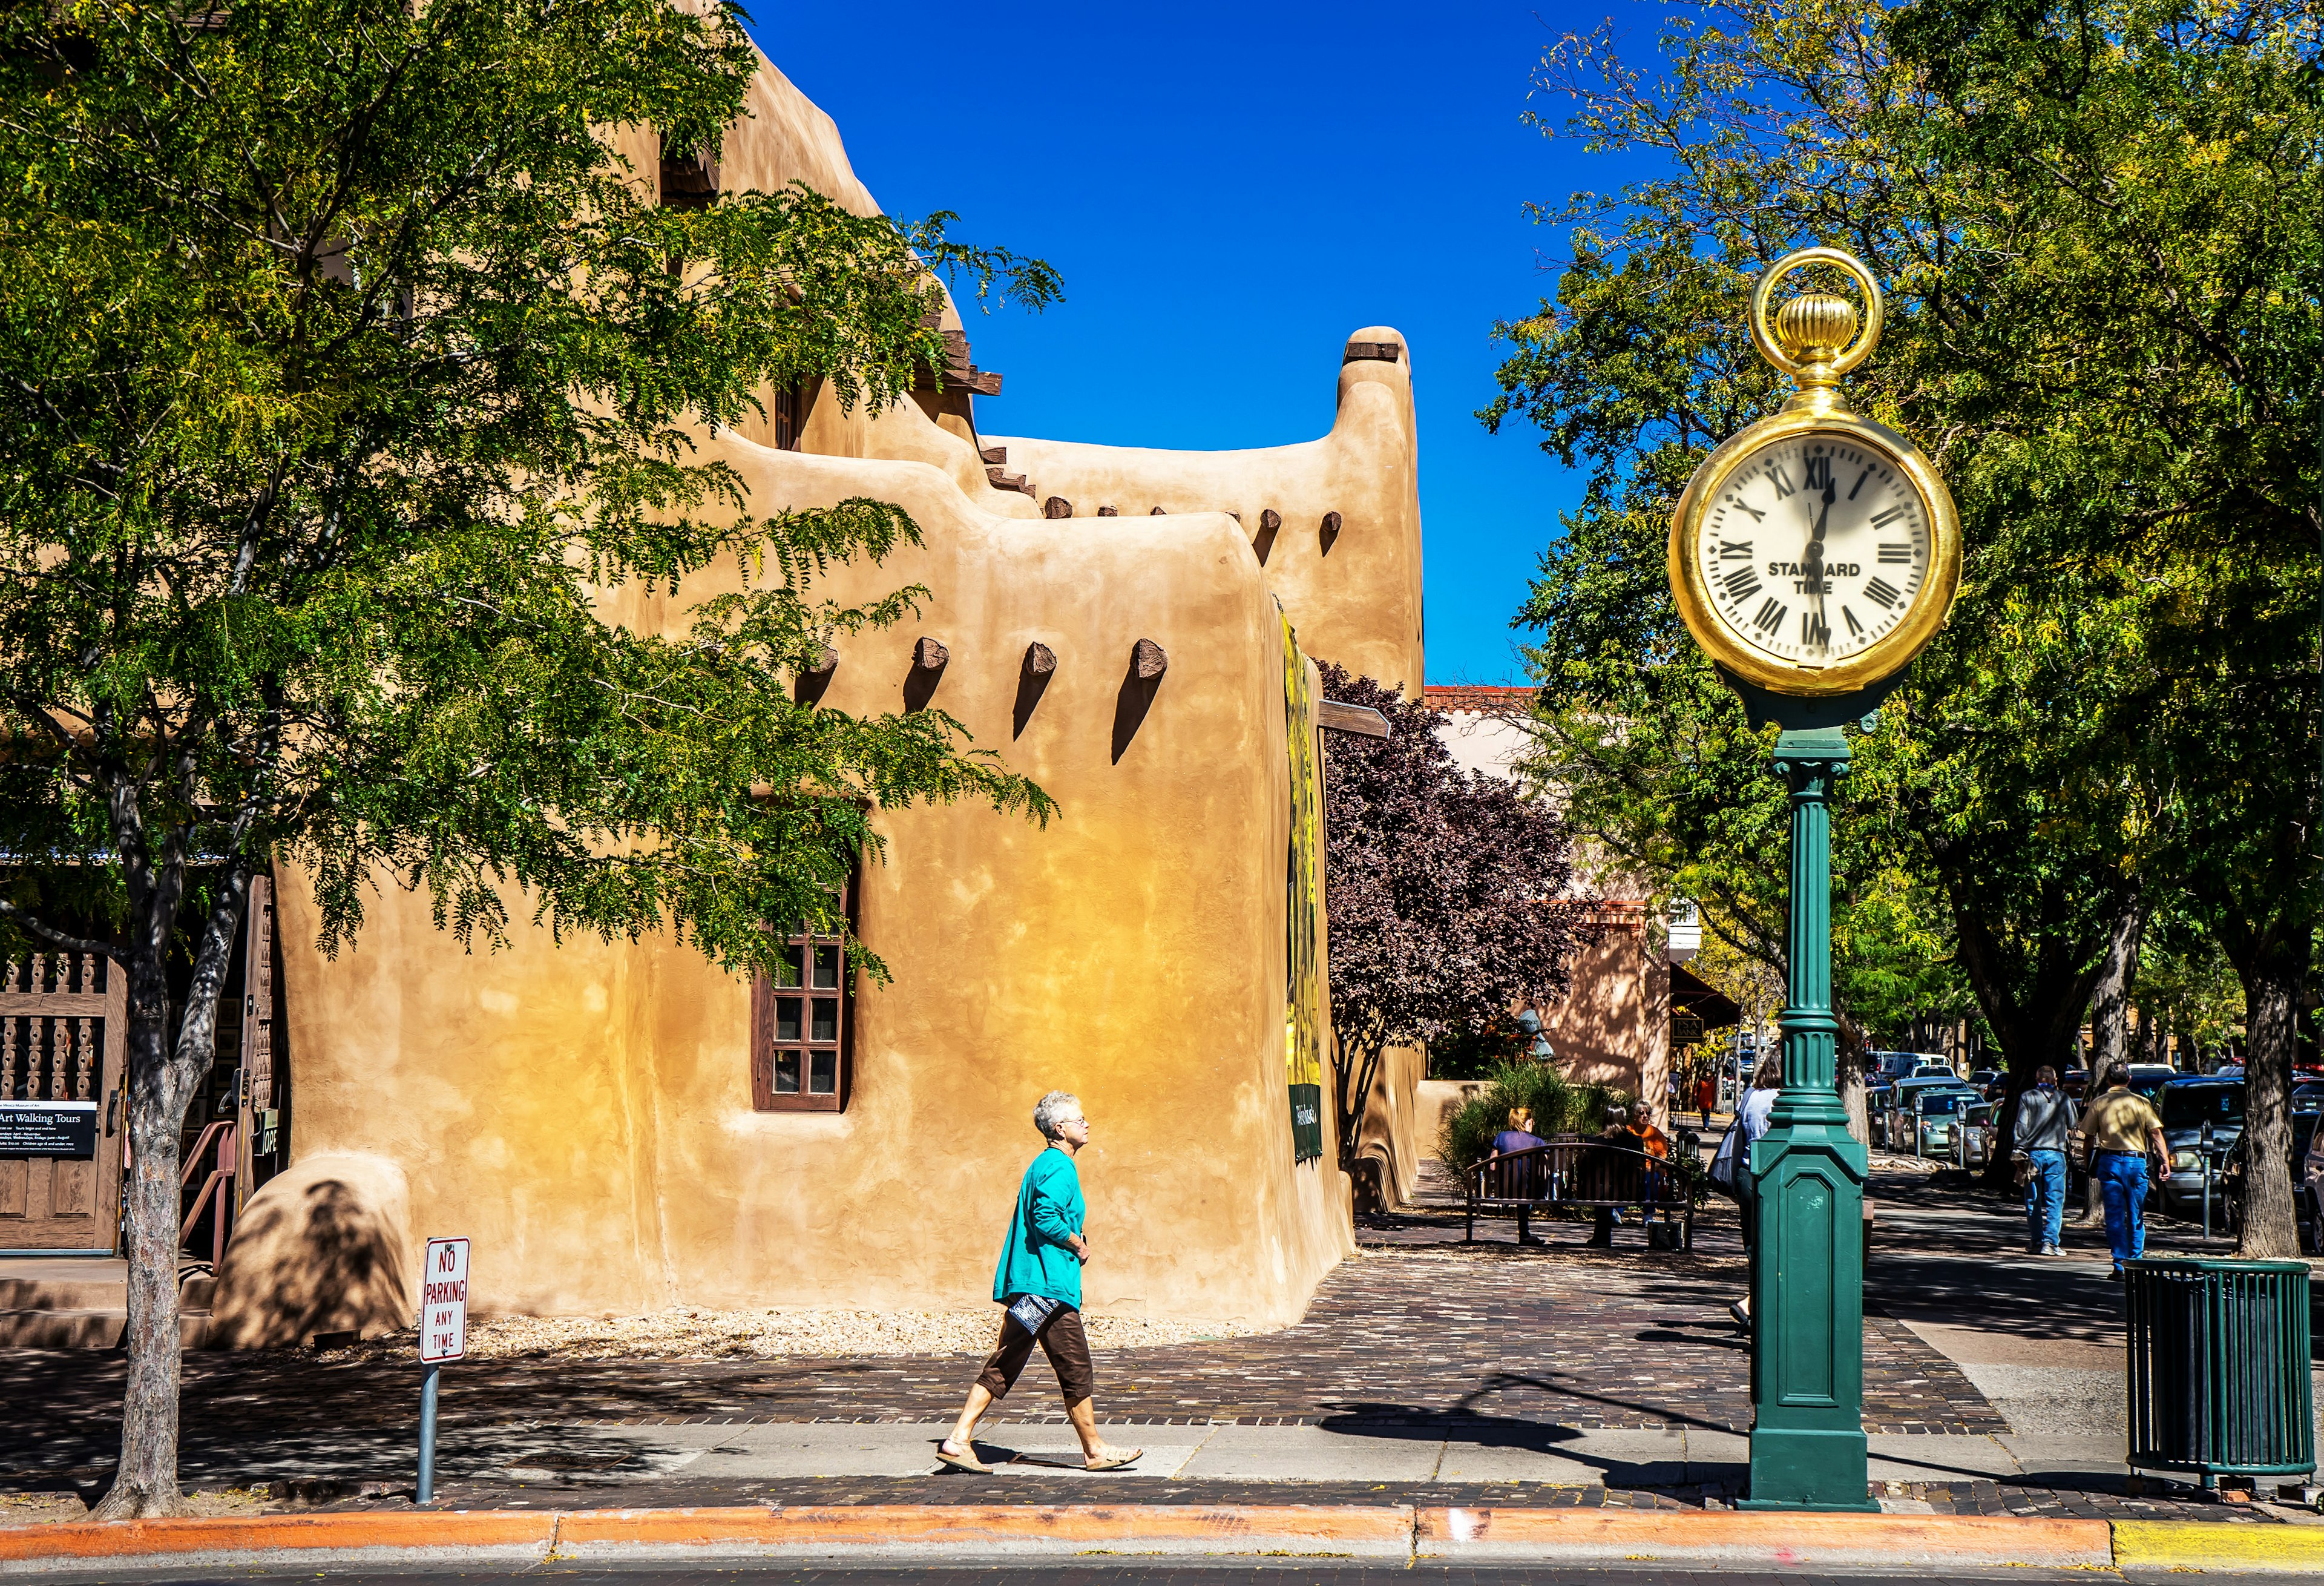
[[[1803, 293], [1769, 316], [1776, 284], [1836, 265], [1864, 288]], [[1671, 519], [1671, 593], [1694, 640], [1734, 677], [1783, 695], [1859, 693], [1936, 637], [1961, 577], [1945, 481], [1896, 430], [1848, 407], [1841, 377], [1880, 344], [1880, 284], [1838, 249], [1799, 249], [1750, 300], [1759, 356], [1794, 379], [1783, 412], [1713, 451]]]

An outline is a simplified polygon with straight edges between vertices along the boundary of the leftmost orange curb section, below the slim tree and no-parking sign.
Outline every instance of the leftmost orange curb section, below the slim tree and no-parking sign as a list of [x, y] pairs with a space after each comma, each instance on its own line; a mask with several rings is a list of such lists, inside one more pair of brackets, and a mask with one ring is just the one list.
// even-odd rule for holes
[[504, 1549], [548, 1551], [555, 1514], [511, 1509], [253, 1514], [179, 1521], [12, 1526], [0, 1530], [0, 1563], [51, 1558], [167, 1558], [186, 1553], [272, 1553], [307, 1549]]

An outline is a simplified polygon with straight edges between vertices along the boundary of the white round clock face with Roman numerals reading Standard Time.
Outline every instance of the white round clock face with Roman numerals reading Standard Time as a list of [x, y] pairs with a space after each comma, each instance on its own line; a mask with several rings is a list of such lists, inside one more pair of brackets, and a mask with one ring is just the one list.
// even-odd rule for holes
[[1887, 453], [1810, 430], [1736, 463], [1701, 514], [1694, 556], [1736, 640], [1829, 667], [1915, 607], [1929, 584], [1929, 507]]

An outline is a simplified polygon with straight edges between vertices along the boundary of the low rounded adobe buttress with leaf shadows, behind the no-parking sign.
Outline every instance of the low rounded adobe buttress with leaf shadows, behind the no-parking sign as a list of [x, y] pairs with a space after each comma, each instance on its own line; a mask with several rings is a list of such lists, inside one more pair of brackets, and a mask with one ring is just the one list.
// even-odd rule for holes
[[321, 1156], [270, 1179], [218, 1270], [216, 1344], [295, 1349], [316, 1333], [409, 1326], [407, 1205], [402, 1170], [370, 1156]]

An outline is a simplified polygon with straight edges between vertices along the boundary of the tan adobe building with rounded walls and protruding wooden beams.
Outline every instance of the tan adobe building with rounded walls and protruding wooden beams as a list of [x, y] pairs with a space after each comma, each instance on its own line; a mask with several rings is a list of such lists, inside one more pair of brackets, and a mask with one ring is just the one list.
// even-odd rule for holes
[[[716, 167], [623, 149], [665, 202], [804, 179], [876, 212], [765, 63]], [[839, 640], [802, 693], [941, 707], [1062, 819], [883, 814], [851, 909], [888, 986], [841, 984], [809, 940], [783, 986], [672, 942], [469, 956], [395, 886], [323, 958], [309, 888], [277, 874], [279, 1051], [246, 1116], [272, 1109], [288, 1156], [225, 1251], [218, 1342], [409, 1326], [430, 1235], [474, 1239], [479, 1312], [983, 1305], [1050, 1088], [1095, 1126], [1090, 1309], [1287, 1323], [1350, 1253], [1315, 658], [1425, 674], [1411, 349], [1355, 330], [1315, 440], [1143, 451], [999, 433], [1002, 377], [944, 323], [948, 388], [883, 414], [767, 391], [704, 456], [755, 512], [913, 516], [920, 546], [820, 588], [923, 584], [920, 616]], [[607, 616], [679, 633], [732, 586], [625, 588]], [[1408, 1105], [1406, 1070], [1376, 1095]], [[1397, 1130], [1408, 1156], [1394, 1121], [1376, 1149]]]

